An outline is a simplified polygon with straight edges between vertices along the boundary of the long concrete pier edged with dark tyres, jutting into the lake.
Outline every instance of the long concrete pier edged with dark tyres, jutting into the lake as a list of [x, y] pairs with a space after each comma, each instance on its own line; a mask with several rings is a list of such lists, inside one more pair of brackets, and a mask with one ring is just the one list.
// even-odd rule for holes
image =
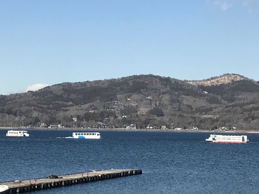
[[56, 187], [65, 187], [74, 184], [102, 181], [111, 178], [118, 178], [130, 175], [142, 174], [142, 170], [93, 170], [69, 175], [61, 175], [58, 178], [35, 178], [27, 180], [16, 180], [1, 182], [7, 185], [9, 190], [5, 194], [27, 193]]

